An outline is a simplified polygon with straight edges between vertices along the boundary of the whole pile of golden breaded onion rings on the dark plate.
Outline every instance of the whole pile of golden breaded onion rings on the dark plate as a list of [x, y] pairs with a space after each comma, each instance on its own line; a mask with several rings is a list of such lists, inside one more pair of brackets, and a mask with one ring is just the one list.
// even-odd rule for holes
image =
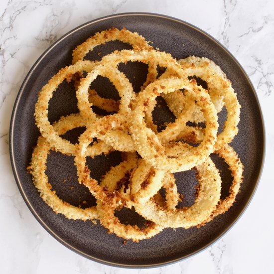
[[[115, 50], [101, 61], [84, 59], [96, 46], [114, 40], [128, 43], [133, 49]], [[41, 136], [28, 166], [41, 198], [55, 213], [73, 220], [99, 220], [109, 233], [138, 242], [165, 228], [204, 226], [233, 205], [243, 180], [243, 165], [229, 143], [238, 133], [241, 106], [219, 66], [205, 57], [177, 61], [125, 28], [96, 33], [77, 46], [72, 56], [72, 65], [61, 68], [39, 91], [34, 116]], [[118, 69], [120, 63], [129, 61], [148, 66], [146, 80], [137, 91]], [[165, 71], [158, 75], [157, 67]], [[120, 100], [102, 98], [90, 88], [99, 75], [113, 83]], [[197, 77], [206, 82], [206, 88], [197, 84]], [[74, 81], [79, 114], [50, 124], [49, 101], [64, 80]], [[161, 132], [152, 116], [157, 97], [166, 102], [176, 118]], [[95, 114], [92, 106], [116, 113], [102, 117]], [[218, 134], [217, 114], [223, 107], [227, 119]], [[78, 143], [61, 137], [79, 127], [86, 130]], [[97, 205], [82, 209], [56, 195], [45, 173], [50, 150], [74, 157], [78, 181], [96, 198]], [[92, 178], [87, 157], [114, 150], [122, 152], [122, 162], [112, 166], [101, 180]], [[222, 180], [211, 160], [212, 153], [225, 160], [233, 176], [225, 199], [220, 199]], [[173, 173], [190, 169], [195, 170], [198, 181], [195, 202], [179, 208], [180, 182], [175, 181]], [[123, 207], [134, 209], [146, 219], [145, 224], [138, 227], [121, 223], [115, 211]]]

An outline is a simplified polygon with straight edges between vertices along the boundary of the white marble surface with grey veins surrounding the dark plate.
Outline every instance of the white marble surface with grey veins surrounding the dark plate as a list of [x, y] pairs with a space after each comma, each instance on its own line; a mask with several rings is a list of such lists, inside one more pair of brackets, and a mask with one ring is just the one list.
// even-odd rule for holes
[[[123, 270], [62, 246], [35, 220], [13, 178], [8, 130], [18, 89], [40, 54], [72, 28], [130, 11], [171, 15], [209, 32], [249, 74], [263, 109], [267, 155], [261, 183], [244, 216], [220, 241], [183, 262]], [[0, 1], [0, 273], [274, 273], [274, 2], [272, 0]]]

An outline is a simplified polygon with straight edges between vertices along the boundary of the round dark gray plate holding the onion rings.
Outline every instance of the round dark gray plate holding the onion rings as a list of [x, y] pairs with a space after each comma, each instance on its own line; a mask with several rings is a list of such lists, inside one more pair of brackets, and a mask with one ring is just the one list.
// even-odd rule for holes
[[[90, 221], [71, 221], [61, 214], [53, 213], [39, 197], [31, 176], [26, 172], [32, 147], [35, 146], [39, 135], [33, 117], [37, 92], [61, 67], [71, 64], [71, 53], [76, 45], [95, 32], [112, 26], [137, 31], [147, 40], [153, 41], [155, 48], [169, 52], [178, 59], [189, 55], [208, 57], [221, 66], [233, 83], [242, 109], [239, 134], [233, 140], [232, 146], [245, 165], [245, 177], [234, 206], [205, 227], [176, 231], [165, 229], [152, 239], [143, 240], [138, 244], [129, 241], [123, 245], [123, 239], [108, 235], [107, 230], [101, 225], [94, 225]], [[120, 42], [111, 42], [95, 48], [88, 57], [98, 59], [116, 48], [130, 47]], [[102, 54], [98, 56], [98, 52]], [[128, 63], [121, 66], [121, 69], [126, 72], [137, 89], [144, 80], [146, 66]], [[102, 96], [117, 97], [116, 91], [104, 78], [97, 79], [93, 86]], [[76, 112], [78, 110], [73, 85], [63, 83], [50, 101], [49, 119], [53, 122], [61, 115]], [[161, 120], [160, 122], [173, 119], [164, 108], [162, 112], [155, 113], [155, 117], [156, 120]], [[224, 118], [225, 112], [222, 112], [221, 124]], [[81, 130], [73, 130], [65, 137], [76, 141], [80, 132]], [[72, 30], [55, 42], [38, 59], [24, 80], [14, 105], [10, 125], [10, 155], [14, 176], [35, 218], [66, 247], [94, 261], [119, 267], [154, 267], [174, 263], [218, 240], [236, 222], [250, 202], [262, 171], [264, 151], [265, 134], [261, 109], [255, 90], [243, 68], [222, 45], [205, 32], [181, 20], [157, 14], [127, 13], [100, 18]], [[224, 197], [232, 181], [231, 173], [222, 159], [216, 155], [212, 158], [221, 170]], [[117, 164], [120, 160], [119, 152], [112, 153], [109, 159], [101, 156], [89, 160], [92, 176], [100, 179], [111, 164]], [[52, 152], [48, 157], [47, 174], [53, 188], [64, 200], [74, 205], [84, 205], [84, 200], [87, 201], [86, 206], [94, 204], [94, 198], [87, 189], [77, 183], [72, 157]], [[194, 201], [194, 185], [197, 183], [194, 171], [177, 173], [175, 176], [178, 188], [185, 196], [180, 206], [191, 205]], [[67, 179], [66, 183], [63, 183], [64, 179]], [[74, 188], [71, 190], [70, 186]], [[118, 214], [123, 222], [140, 224], [143, 221], [131, 211], [122, 210]]]

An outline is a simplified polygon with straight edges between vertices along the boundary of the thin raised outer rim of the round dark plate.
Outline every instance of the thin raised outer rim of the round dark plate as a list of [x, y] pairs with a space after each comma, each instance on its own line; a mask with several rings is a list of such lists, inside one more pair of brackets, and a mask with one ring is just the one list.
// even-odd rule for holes
[[[36, 67], [39, 65], [39, 63], [43, 60], [43, 58], [57, 45], [59, 44], [62, 40], [64, 40], [65, 38], [67, 38], [69, 35], [71, 35], [72, 33], [78, 31], [81, 28], [86, 27], [87, 25], [91, 25], [91, 24], [95, 24], [97, 22], [106, 20], [106, 19], [110, 19], [110, 18], [115, 18], [115, 17], [123, 17], [123, 16], [151, 16], [151, 17], [158, 17], [158, 18], [164, 18], [164, 19], [168, 19], [171, 21], [175, 21], [178, 22], [180, 24], [186, 25], [198, 32], [200, 32], [202, 35], [207, 36], [210, 40], [212, 40], [218, 47], [221, 47], [222, 50], [224, 50], [231, 58], [232, 60], [236, 63], [236, 65], [239, 67], [239, 69], [243, 72], [249, 86], [251, 87], [252, 92], [255, 95], [255, 99], [256, 99], [256, 103], [258, 105], [258, 110], [259, 110], [259, 114], [260, 114], [260, 120], [262, 123], [262, 128], [263, 128], [263, 154], [262, 154], [262, 161], [260, 163], [260, 170], [259, 170], [259, 175], [257, 178], [257, 182], [255, 184], [255, 187], [248, 199], [248, 201], [246, 202], [244, 208], [242, 209], [242, 211], [238, 214], [238, 216], [235, 218], [235, 220], [226, 228], [223, 230], [223, 232], [215, 237], [210, 243], [208, 243], [207, 245], [203, 246], [202, 248], [192, 252], [189, 255], [174, 259], [174, 260], [168, 260], [165, 261], [163, 263], [156, 263], [156, 264], [147, 264], [147, 265], [133, 265], [133, 264], [119, 264], [119, 263], [113, 263], [113, 262], [109, 262], [106, 260], [102, 260], [102, 259], [98, 259], [95, 258], [93, 256], [90, 256], [80, 250], [78, 250], [77, 248], [71, 246], [69, 243], [67, 243], [65, 240], [63, 240], [61, 237], [59, 237], [58, 235], [55, 234], [54, 231], [52, 231], [47, 224], [40, 218], [40, 216], [37, 214], [37, 212], [35, 211], [35, 209], [32, 207], [30, 201], [28, 200], [27, 196], [25, 195], [25, 192], [22, 188], [21, 182], [20, 182], [20, 178], [16, 169], [16, 163], [15, 163], [15, 157], [14, 157], [14, 150], [13, 150], [13, 134], [14, 134], [14, 122], [15, 122], [15, 116], [17, 113], [17, 108], [20, 102], [20, 98], [22, 96], [22, 93], [24, 91], [25, 85], [27, 83], [27, 81], [29, 80], [29, 78], [31, 77], [32, 73], [35, 71]], [[13, 109], [12, 109], [12, 113], [11, 113], [11, 119], [10, 119], [10, 127], [9, 127], [9, 155], [10, 155], [10, 162], [11, 162], [11, 167], [12, 167], [12, 171], [13, 171], [13, 175], [17, 184], [17, 187], [20, 191], [21, 196], [24, 199], [24, 202], [26, 203], [27, 207], [29, 208], [29, 210], [31, 211], [32, 215], [35, 217], [35, 219], [38, 221], [38, 223], [51, 235], [53, 236], [53, 238], [55, 238], [59, 243], [61, 243], [62, 245], [64, 245], [65, 247], [67, 247], [68, 249], [70, 249], [71, 251], [74, 251], [75, 253], [77, 253], [78, 255], [81, 255], [89, 260], [95, 261], [97, 263], [101, 263], [104, 265], [108, 265], [111, 267], [119, 267], [119, 268], [131, 268], [131, 269], [147, 269], [147, 268], [156, 268], [156, 267], [163, 267], [163, 266], [167, 266], [167, 265], [171, 265], [177, 262], [180, 262], [182, 260], [186, 260], [191, 258], [192, 256], [206, 250], [207, 248], [209, 248], [211, 245], [213, 245], [214, 243], [216, 243], [218, 240], [220, 240], [224, 235], [226, 235], [226, 233], [239, 221], [239, 219], [242, 217], [242, 215], [244, 214], [244, 212], [247, 210], [248, 206], [251, 203], [251, 200], [254, 197], [254, 194], [258, 188], [259, 182], [261, 180], [262, 177], [262, 172], [263, 172], [263, 168], [264, 168], [264, 163], [265, 163], [265, 157], [266, 157], [266, 130], [265, 130], [265, 122], [264, 122], [264, 116], [263, 116], [263, 112], [262, 112], [262, 108], [260, 105], [260, 101], [258, 98], [258, 95], [256, 93], [256, 90], [248, 76], [248, 74], [246, 73], [246, 71], [244, 70], [243, 66], [238, 62], [238, 60], [234, 57], [234, 55], [227, 49], [225, 48], [224, 45], [222, 45], [217, 39], [215, 39], [213, 36], [211, 36], [210, 34], [208, 34], [207, 32], [205, 32], [204, 30], [200, 29], [199, 27], [188, 23], [184, 20], [178, 19], [176, 17], [172, 17], [172, 16], [168, 16], [168, 15], [164, 15], [164, 14], [159, 14], [159, 13], [151, 13], [151, 12], [123, 12], [123, 13], [117, 13], [117, 14], [111, 14], [111, 15], [106, 15], [103, 17], [99, 17], [96, 18], [94, 20], [88, 21], [86, 23], [83, 23], [75, 28], [73, 28], [72, 30], [70, 30], [69, 32], [65, 33], [63, 36], [61, 36], [58, 40], [56, 40], [51, 46], [49, 46], [41, 55], [40, 57], [35, 61], [35, 63], [33, 64], [33, 66], [30, 68], [30, 70], [28, 71], [26, 77], [24, 78], [22, 85], [18, 91], [18, 94], [16, 96], [14, 105], [13, 105]]]

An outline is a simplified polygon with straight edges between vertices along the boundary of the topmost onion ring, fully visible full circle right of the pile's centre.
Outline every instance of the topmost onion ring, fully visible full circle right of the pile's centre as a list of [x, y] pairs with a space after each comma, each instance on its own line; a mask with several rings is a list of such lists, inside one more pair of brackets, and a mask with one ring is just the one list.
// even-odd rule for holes
[[[143, 116], [146, 106], [159, 96], [160, 92], [169, 93], [181, 88], [184, 88], [204, 111], [207, 121], [205, 137], [198, 147], [183, 142], [169, 144], [180, 152], [168, 155], [157, 136], [145, 126]], [[206, 91], [201, 87], [197, 88], [196, 81], [185, 84], [178, 78], [156, 80], [139, 93], [131, 124], [130, 133], [141, 157], [153, 167], [169, 172], [184, 171], [201, 164], [213, 152], [218, 129], [216, 110]]]

